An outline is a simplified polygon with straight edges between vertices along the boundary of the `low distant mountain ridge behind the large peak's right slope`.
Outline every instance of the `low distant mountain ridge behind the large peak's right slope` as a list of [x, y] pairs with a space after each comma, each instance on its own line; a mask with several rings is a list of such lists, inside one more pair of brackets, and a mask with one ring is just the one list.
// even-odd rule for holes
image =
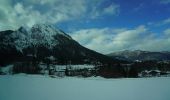
[[147, 61], [147, 60], [157, 60], [166, 61], [170, 60], [170, 52], [151, 52], [151, 51], [119, 51], [108, 54], [108, 56], [116, 59], [127, 60], [127, 61]]

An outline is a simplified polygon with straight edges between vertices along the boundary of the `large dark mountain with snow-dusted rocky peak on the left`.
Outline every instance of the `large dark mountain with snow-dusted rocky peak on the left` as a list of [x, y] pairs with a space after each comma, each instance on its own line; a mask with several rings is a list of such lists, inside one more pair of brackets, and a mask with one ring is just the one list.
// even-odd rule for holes
[[51, 25], [0, 32], [0, 65], [53, 58], [58, 64], [115, 63], [119, 60], [81, 46], [71, 36]]

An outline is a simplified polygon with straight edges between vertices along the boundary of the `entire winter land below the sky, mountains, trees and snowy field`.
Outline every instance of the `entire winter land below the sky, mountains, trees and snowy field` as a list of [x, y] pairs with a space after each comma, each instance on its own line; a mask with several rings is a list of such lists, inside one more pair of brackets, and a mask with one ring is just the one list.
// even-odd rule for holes
[[46, 24], [0, 38], [0, 100], [170, 100], [169, 52], [108, 56]]

